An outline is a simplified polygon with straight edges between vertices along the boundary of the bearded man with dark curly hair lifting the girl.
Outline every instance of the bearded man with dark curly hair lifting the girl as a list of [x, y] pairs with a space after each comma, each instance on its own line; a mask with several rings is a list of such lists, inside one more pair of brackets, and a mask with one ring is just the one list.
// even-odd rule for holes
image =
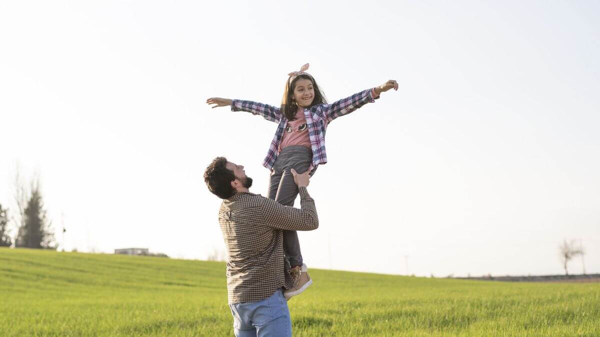
[[206, 167], [204, 181], [209, 191], [223, 199], [219, 224], [229, 255], [227, 297], [236, 336], [291, 336], [292, 321], [283, 289], [296, 294], [305, 273], [290, 275], [290, 264], [283, 249], [282, 230], [314, 230], [319, 218], [313, 198], [308, 195], [309, 171], [292, 169], [298, 185], [301, 209], [252, 194], [252, 178], [244, 166], [224, 157]]

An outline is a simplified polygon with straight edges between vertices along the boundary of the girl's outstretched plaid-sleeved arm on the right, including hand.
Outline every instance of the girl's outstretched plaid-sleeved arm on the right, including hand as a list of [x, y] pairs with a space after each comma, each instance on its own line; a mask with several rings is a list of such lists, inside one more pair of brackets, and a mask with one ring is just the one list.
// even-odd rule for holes
[[395, 80], [389, 80], [375, 88], [361, 91], [358, 94], [325, 105], [323, 106], [323, 114], [329, 123], [340, 116], [348, 115], [367, 103], [374, 102], [374, 100], [379, 98], [379, 94], [392, 88], [396, 91], [398, 90], [398, 82]]

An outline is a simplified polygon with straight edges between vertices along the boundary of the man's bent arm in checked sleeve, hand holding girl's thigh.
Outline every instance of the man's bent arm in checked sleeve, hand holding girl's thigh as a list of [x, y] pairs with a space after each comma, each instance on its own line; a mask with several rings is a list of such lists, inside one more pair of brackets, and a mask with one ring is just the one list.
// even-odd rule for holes
[[309, 173], [310, 171], [306, 171], [298, 174], [292, 169], [294, 181], [299, 189], [301, 209], [283, 206], [269, 198], [263, 200], [261, 210], [265, 225], [281, 230], [316, 230], [319, 228], [317, 209], [314, 206], [313, 198], [306, 189]]

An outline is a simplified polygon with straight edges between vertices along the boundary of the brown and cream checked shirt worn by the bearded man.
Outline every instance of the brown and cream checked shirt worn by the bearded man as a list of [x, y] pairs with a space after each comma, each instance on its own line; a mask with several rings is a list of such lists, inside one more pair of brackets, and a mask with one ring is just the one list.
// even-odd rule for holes
[[283, 251], [283, 231], [319, 227], [313, 198], [299, 188], [301, 209], [283, 206], [258, 194], [239, 192], [224, 199], [219, 224], [227, 246], [227, 300], [245, 303], [266, 299], [292, 278]]

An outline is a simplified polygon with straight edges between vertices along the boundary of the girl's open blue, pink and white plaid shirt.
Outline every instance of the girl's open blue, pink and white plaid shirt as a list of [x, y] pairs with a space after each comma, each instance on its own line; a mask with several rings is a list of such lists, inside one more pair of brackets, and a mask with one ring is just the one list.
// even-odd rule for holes
[[[373, 97], [373, 89], [367, 89], [332, 104], [317, 104], [310, 109], [304, 109], [304, 117], [308, 126], [308, 138], [310, 139], [311, 149], [313, 149], [313, 163], [310, 170], [319, 164], [327, 163], [325, 131], [329, 122], [347, 115], [367, 103], [373, 103], [377, 98], [379, 97]], [[269, 152], [263, 161], [263, 166], [269, 170], [273, 169], [279, 154], [279, 144], [283, 138], [283, 131], [288, 122], [286, 116], [281, 113], [281, 109], [278, 107], [253, 101], [232, 100], [231, 110], [250, 112], [254, 115], [263, 116], [267, 121], [279, 124], [277, 131], [275, 131], [275, 137], [271, 141]]]

